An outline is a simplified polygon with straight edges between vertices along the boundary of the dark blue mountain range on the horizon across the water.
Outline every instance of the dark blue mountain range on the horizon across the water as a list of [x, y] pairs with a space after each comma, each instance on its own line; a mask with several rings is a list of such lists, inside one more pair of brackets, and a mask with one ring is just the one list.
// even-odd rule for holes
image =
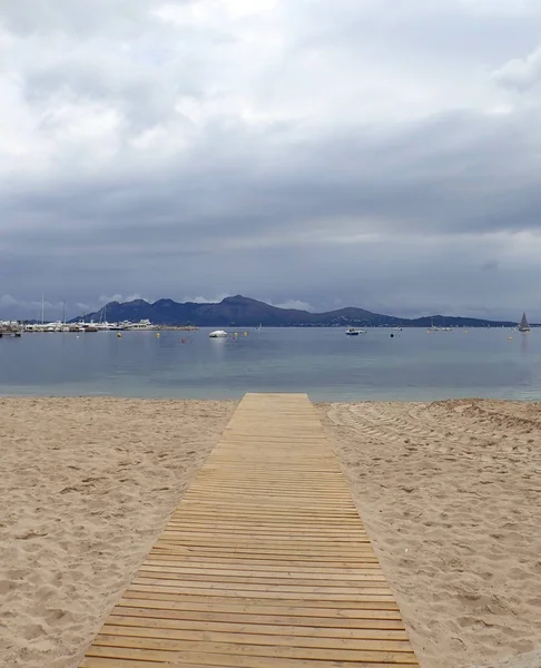
[[[198, 327], [217, 326], [257, 326], [265, 327], [429, 327], [434, 326], [464, 326], [486, 327], [506, 326], [512, 327], [517, 323], [510, 321], [489, 321], [472, 317], [454, 316], [424, 316], [417, 318], [395, 317], [372, 313], [364, 308], [353, 306], [329, 311], [326, 313], [309, 313], [297, 308], [279, 308], [250, 299], [243, 295], [226, 297], [218, 304], [199, 304], [195, 302], [179, 303], [173, 299], [158, 299], [150, 303], [145, 299], [131, 302], [110, 302], [95, 313], [82, 316], [85, 321], [139, 321], [149, 320], [159, 325], [195, 325]], [[79, 318], [73, 318], [72, 322]]]

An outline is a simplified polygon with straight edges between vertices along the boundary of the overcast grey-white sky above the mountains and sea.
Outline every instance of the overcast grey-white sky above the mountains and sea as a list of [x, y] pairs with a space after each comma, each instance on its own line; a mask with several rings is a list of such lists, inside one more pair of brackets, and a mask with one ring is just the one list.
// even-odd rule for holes
[[539, 0], [0, 0], [0, 316], [541, 321]]

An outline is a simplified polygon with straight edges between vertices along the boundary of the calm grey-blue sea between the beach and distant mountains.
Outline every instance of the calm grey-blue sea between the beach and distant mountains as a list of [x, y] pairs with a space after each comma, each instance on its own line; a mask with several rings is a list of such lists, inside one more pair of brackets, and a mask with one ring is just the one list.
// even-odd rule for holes
[[338, 328], [263, 328], [248, 330], [247, 336], [240, 331], [236, 340], [212, 340], [208, 332], [0, 338], [0, 394], [237, 399], [245, 392], [307, 392], [314, 401], [541, 399], [541, 330], [429, 334], [378, 328], [350, 337]]

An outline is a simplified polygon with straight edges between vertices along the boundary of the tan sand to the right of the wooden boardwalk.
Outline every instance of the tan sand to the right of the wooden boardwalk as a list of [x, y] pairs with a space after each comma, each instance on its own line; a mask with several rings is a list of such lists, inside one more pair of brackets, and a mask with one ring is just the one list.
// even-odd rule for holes
[[319, 411], [422, 668], [541, 668], [541, 404]]

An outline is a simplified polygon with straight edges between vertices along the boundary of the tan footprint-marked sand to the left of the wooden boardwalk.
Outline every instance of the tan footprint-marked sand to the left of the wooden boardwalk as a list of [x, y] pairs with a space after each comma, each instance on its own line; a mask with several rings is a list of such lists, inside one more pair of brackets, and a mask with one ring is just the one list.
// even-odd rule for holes
[[233, 402], [0, 400], [0, 666], [72, 668]]

